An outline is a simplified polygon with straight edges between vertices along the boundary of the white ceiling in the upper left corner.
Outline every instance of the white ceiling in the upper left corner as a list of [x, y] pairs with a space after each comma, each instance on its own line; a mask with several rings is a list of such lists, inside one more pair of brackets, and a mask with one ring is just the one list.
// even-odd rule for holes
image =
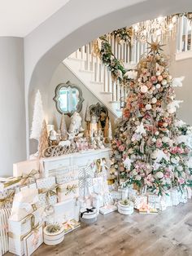
[[70, 0], [0, 0], [0, 37], [25, 37]]

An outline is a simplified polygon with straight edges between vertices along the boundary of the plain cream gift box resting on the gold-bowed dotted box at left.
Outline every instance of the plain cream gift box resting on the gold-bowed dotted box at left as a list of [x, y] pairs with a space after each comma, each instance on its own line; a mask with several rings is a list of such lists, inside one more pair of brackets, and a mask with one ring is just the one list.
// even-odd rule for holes
[[37, 210], [38, 191], [36, 188], [26, 188], [14, 196], [10, 219], [20, 221], [28, 214]]

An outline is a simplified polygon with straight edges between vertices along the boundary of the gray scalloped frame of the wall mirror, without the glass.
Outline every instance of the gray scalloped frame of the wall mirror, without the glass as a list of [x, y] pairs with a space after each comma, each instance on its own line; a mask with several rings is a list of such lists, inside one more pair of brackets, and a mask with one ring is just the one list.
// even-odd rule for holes
[[[60, 108], [60, 104], [59, 104], [59, 90], [61, 88], [76, 88], [76, 90], [79, 91], [79, 102], [78, 104], [76, 105], [76, 110], [72, 111], [72, 112], [63, 112], [63, 110]], [[67, 82], [67, 83], [59, 83], [59, 85], [55, 88], [55, 97], [53, 98], [55, 100], [55, 106], [57, 108], [57, 111], [60, 113], [60, 114], [66, 114], [68, 115], [69, 117], [72, 117], [72, 114], [77, 112], [77, 113], [80, 113], [81, 112], [81, 109], [82, 109], [82, 103], [84, 101], [84, 98], [82, 96], [82, 90], [76, 86], [76, 85], [73, 85], [71, 82]]]

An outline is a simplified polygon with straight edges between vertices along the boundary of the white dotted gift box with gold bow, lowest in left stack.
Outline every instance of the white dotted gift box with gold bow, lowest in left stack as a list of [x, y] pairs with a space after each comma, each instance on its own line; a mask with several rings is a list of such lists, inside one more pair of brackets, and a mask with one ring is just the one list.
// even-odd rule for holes
[[12, 254], [24, 255], [24, 237], [32, 232], [32, 218], [35, 227], [41, 223], [42, 211], [43, 208], [39, 208], [21, 221], [9, 219], [9, 251]]

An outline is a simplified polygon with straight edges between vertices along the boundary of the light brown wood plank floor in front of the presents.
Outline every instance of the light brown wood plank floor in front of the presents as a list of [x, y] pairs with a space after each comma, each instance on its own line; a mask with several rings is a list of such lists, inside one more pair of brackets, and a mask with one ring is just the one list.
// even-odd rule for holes
[[97, 223], [68, 233], [60, 245], [41, 245], [34, 255], [192, 255], [192, 202], [158, 215], [99, 214]]

